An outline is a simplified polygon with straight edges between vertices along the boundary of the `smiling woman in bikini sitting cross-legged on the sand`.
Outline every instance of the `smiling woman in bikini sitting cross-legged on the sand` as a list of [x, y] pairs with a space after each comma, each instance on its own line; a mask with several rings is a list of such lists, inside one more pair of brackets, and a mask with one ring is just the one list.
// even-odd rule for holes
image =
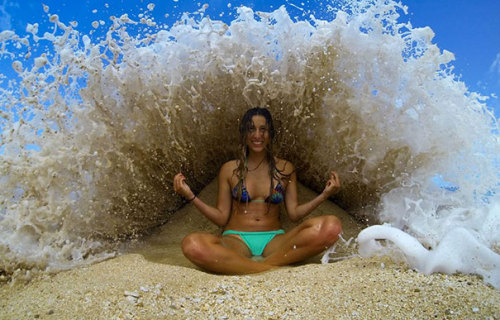
[[[334, 244], [342, 232], [335, 216], [311, 218], [285, 232], [279, 221], [279, 204], [284, 201], [292, 221], [302, 219], [340, 189], [337, 173], [331, 172], [320, 195], [299, 204], [294, 166], [272, 153], [275, 131], [269, 111], [248, 110], [239, 131], [241, 158], [220, 169], [215, 207], [196, 197], [182, 173], [174, 178], [174, 190], [224, 228], [221, 236], [186, 236], [182, 241], [184, 255], [212, 272], [247, 274], [304, 260]], [[253, 256], [262, 259], [255, 260]]]

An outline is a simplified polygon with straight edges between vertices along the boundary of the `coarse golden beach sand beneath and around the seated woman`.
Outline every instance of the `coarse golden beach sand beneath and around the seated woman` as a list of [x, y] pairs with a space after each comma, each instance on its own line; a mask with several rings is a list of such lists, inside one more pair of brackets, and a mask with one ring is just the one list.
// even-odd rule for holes
[[[214, 194], [212, 183], [200, 197]], [[331, 202], [315, 214], [327, 212], [341, 218], [346, 239], [363, 227]], [[500, 290], [481, 278], [423, 275], [387, 257], [320, 264], [317, 256], [256, 275], [209, 274], [179, 248], [196, 230], [217, 232], [187, 205], [116, 258], [4, 283], [0, 319], [500, 319]], [[337, 251], [338, 258], [355, 254], [352, 246]]]

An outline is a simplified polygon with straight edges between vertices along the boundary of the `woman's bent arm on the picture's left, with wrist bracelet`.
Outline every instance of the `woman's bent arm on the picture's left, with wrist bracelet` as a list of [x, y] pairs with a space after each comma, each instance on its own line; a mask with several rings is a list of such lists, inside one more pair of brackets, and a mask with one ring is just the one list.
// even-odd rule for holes
[[217, 204], [212, 207], [200, 198], [196, 197], [191, 191], [191, 188], [186, 184], [186, 177], [182, 173], [178, 173], [174, 177], [174, 190], [191, 203], [205, 216], [208, 220], [222, 227], [226, 225], [231, 213], [231, 186], [230, 179], [232, 175], [232, 164], [228, 162], [224, 164], [219, 171], [218, 177], [218, 194]]

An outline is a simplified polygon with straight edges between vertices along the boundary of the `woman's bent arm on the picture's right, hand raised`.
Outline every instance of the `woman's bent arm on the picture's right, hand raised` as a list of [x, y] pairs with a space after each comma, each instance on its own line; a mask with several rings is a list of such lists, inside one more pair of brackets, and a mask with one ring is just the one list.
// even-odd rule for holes
[[288, 186], [286, 188], [285, 206], [288, 212], [288, 216], [292, 221], [298, 221], [308, 214], [310, 214], [314, 209], [316, 209], [323, 201], [328, 199], [331, 195], [338, 192], [340, 189], [340, 178], [339, 175], [332, 171], [330, 179], [326, 182], [325, 189], [316, 198], [304, 204], [299, 204], [297, 198], [297, 176], [295, 170], [292, 168], [292, 174], [289, 179]]

